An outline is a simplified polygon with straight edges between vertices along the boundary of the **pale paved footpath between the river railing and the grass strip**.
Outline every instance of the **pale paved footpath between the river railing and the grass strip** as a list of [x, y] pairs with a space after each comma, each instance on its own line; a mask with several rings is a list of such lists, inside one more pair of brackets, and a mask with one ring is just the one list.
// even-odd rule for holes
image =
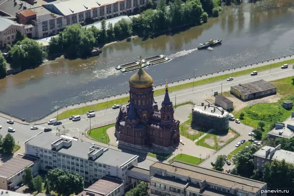
[[[282, 61], [290, 60], [290, 59], [294, 59], [294, 55], [283, 56], [283, 57], [280, 57], [280, 59], [273, 58], [273, 59], [271, 59], [269, 61], [268, 61], [268, 59], [266, 59], [266, 60], [258, 62], [258, 63], [257, 62], [255, 62], [255, 63], [252, 62], [252, 64], [249, 63], [247, 65], [234, 67], [233, 70], [232, 70], [232, 68], [227, 69], [227, 70], [220, 70], [220, 71], [205, 74], [205, 75], [202, 75], [202, 76], [195, 76], [195, 78], [192, 75], [190, 78], [182, 79], [181, 81], [179, 81], [179, 80], [170, 81], [169, 87], [176, 86], [176, 85], [179, 85], [179, 84], [191, 83], [193, 81], [196, 82], [196, 81], [203, 80], [203, 79], [209, 79], [209, 78], [213, 78], [213, 77], [216, 77], [216, 76], [229, 74], [229, 73], [232, 73], [232, 72], [252, 69], [252, 68], [255, 68], [255, 67], [269, 65], [269, 64], [272, 64], [272, 63], [282, 62]], [[292, 67], [289, 67], [289, 69], [292, 69]], [[265, 71], [265, 70], [263, 70], [263, 71]], [[238, 76], [236, 76], [236, 77], [238, 77]], [[215, 82], [212, 82], [212, 83], [215, 83]], [[164, 88], [165, 88], [165, 84], [157, 84], [157, 85], [154, 84], [154, 90], [164, 89]], [[184, 90], [184, 89], [182, 89], [182, 90]], [[117, 95], [108, 96], [108, 98], [106, 97], [106, 98], [103, 98], [103, 99], [93, 99], [92, 101], [88, 101], [88, 102], [85, 101], [85, 102], [81, 102], [80, 104], [70, 105], [68, 107], [61, 108], [61, 109], [58, 110], [58, 113], [62, 113], [62, 112], [68, 111], [68, 110], [76, 109], [76, 108], [81, 108], [81, 107], [83, 107], [83, 105], [84, 106], [95, 105], [95, 104], [98, 104], [98, 103], [106, 102], [107, 100], [111, 101], [111, 100], [116, 100], [116, 99], [123, 98], [123, 97], [128, 97], [128, 96], [129, 96], [128, 92], [124, 92], [124, 93], [119, 93]], [[157, 95], [157, 96], [160, 96], [160, 95]], [[105, 109], [102, 109], [102, 110], [105, 110]], [[87, 112], [87, 111], [85, 111], [85, 112]], [[45, 118], [43, 118], [43, 119], [41, 119], [39, 121], [36, 121], [35, 123], [36, 124], [44, 124], [44, 123], [48, 122], [49, 119], [53, 118], [56, 115], [57, 115], [57, 111], [52, 112], [51, 114], [49, 114]], [[0, 116], [3, 117], [3, 118], [6, 118], [6, 119], [12, 119], [12, 120], [14, 120], [14, 121], [16, 121], [18, 123], [21, 123], [21, 124], [29, 124], [29, 123], [27, 123], [25, 121], [22, 121], [22, 120], [20, 120], [18, 118], [15, 118], [15, 117], [11, 116], [11, 115], [7, 115], [7, 114], [1, 113], [1, 112], [0, 112]]]

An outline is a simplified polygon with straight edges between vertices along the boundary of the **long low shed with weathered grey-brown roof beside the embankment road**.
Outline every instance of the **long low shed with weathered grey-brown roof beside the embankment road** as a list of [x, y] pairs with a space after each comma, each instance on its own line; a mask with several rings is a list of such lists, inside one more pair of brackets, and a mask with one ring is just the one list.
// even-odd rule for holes
[[276, 87], [265, 80], [231, 86], [231, 93], [244, 101], [266, 97], [276, 92]]

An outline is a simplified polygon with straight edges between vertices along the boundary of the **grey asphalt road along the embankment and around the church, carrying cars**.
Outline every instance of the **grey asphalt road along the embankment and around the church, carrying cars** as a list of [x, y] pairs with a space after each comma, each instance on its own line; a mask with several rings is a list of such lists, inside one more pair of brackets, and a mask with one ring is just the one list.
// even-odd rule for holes
[[[205, 84], [201, 86], [195, 86], [194, 88], [183, 89], [176, 92], [172, 92], [170, 93], [170, 98], [173, 104], [175, 103], [175, 99], [177, 104], [187, 100], [192, 100], [194, 102], [200, 103], [205, 98], [212, 96], [214, 91], [221, 92], [221, 88], [222, 88], [222, 91], [229, 91], [230, 87], [233, 85], [254, 82], [261, 79], [266, 81], [272, 81], [272, 80], [290, 77], [293, 75], [294, 75], [294, 70], [290, 67], [288, 69], [275, 68], [268, 71], [259, 72], [257, 76], [245, 75], [245, 76], [234, 78], [233, 81], [229, 81], [229, 82], [224, 80], [217, 83]], [[159, 106], [161, 102], [163, 101], [163, 98], [164, 98], [163, 95], [155, 97], [155, 100], [157, 101]], [[181, 110], [179, 110], [179, 112], [180, 111]], [[96, 116], [91, 118], [91, 125], [113, 121], [114, 119], [116, 119], [118, 112], [119, 112], [119, 109], [115, 109], [115, 110], [107, 109], [107, 110], [98, 111], [96, 112]], [[177, 112], [177, 110], [175, 112]], [[181, 113], [177, 113], [177, 115], [181, 115]], [[183, 113], [183, 115], [186, 116], [187, 114]], [[10, 125], [6, 123], [5, 118], [0, 117], [0, 125], [2, 125], [0, 134], [4, 137], [8, 133], [7, 132], [8, 127], [12, 127], [16, 129], [16, 132], [12, 133], [12, 135], [15, 138], [16, 142], [17, 143], [19, 142], [21, 147], [23, 147], [24, 145], [22, 143], [25, 140], [28, 140], [35, 134], [39, 133], [40, 130], [43, 130], [45, 127], [52, 128], [52, 131], [47, 134], [57, 135], [58, 133], [60, 134], [65, 133], [65, 135], [69, 137], [76, 136], [78, 138], [81, 138], [82, 137], [81, 133], [84, 132], [86, 127], [90, 126], [90, 119], [87, 118], [85, 114], [82, 115], [82, 119], [80, 121], [73, 122], [69, 119], [64, 119], [61, 121], [62, 121], [62, 125], [58, 126], [60, 131], [56, 129], [57, 126], [47, 125], [46, 123], [38, 125], [40, 128], [39, 130], [30, 130], [31, 125], [23, 125], [18, 122], [15, 122], [13, 125]], [[248, 133], [251, 131], [252, 128], [249, 128], [243, 124], [236, 124], [235, 122], [231, 122], [230, 125], [242, 134], [242, 137], [240, 137], [240, 140], [241, 139], [248, 140], [249, 138], [251, 138], [248, 136]], [[235, 149], [235, 144], [239, 142], [239, 140], [237, 142], [235, 141], [228, 144], [226, 147], [221, 149], [218, 153], [212, 155], [208, 161], [202, 164], [202, 166], [209, 168], [211, 167], [210, 162], [215, 161], [215, 158], [218, 154], [229, 154], [231, 151], [233, 151]], [[98, 143], [98, 142], [94, 142], [94, 143]], [[101, 144], [101, 145], [105, 145], [105, 144]], [[150, 158], [150, 160], [155, 161], [152, 158]], [[144, 166], [147, 164], [149, 164], [149, 162], [144, 164]], [[142, 165], [142, 167], [144, 166]]]

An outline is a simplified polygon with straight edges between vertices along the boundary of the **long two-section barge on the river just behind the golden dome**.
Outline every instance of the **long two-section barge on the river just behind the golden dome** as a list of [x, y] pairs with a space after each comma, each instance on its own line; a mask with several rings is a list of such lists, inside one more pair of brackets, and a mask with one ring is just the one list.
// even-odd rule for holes
[[[147, 67], [149, 65], [155, 65], [158, 63], [166, 62], [171, 60], [171, 58], [165, 56], [165, 55], [157, 55], [157, 56], [151, 56], [147, 57], [142, 60], [142, 67]], [[140, 68], [140, 61], [134, 61], [130, 63], [126, 63], [123, 65], [119, 65], [115, 67], [115, 69], [120, 70], [121, 72], [128, 72], [133, 71]]]

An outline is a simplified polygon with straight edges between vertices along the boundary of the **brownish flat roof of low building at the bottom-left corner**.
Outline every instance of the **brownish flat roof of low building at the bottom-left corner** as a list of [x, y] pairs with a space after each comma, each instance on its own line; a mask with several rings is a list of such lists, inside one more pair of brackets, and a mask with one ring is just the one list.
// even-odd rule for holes
[[32, 157], [17, 155], [0, 166], [0, 176], [10, 178], [22, 169], [33, 164], [36, 160]]

